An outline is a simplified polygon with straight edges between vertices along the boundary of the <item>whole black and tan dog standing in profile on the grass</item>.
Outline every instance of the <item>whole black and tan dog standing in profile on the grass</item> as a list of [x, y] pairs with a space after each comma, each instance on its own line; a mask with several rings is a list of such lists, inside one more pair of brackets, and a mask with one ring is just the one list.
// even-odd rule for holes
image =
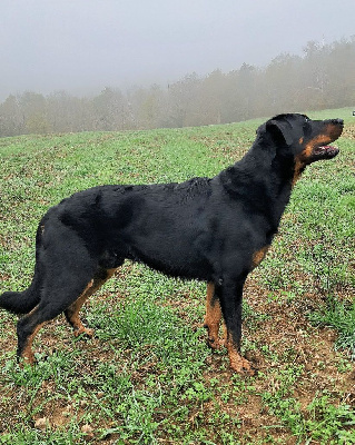
[[244, 283], [263, 260], [295, 181], [307, 165], [338, 154], [328, 144], [342, 130], [341, 119], [276, 116], [258, 128], [245, 157], [214, 178], [96, 187], [50, 208], [37, 231], [32, 284], [0, 296], [1, 307], [27, 314], [17, 327], [18, 356], [33, 363], [34, 335], [62, 312], [76, 335], [91, 336], [79, 310], [128, 258], [207, 281], [208, 342], [219, 346], [223, 315], [231, 368], [253, 373], [239, 355]]

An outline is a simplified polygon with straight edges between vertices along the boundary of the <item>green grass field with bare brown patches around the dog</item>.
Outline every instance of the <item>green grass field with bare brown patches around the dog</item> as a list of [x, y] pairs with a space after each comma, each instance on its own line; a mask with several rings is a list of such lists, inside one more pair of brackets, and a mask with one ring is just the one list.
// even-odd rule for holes
[[[16, 360], [17, 317], [0, 312], [0, 444], [355, 444], [355, 118], [341, 154], [297, 182], [279, 234], [248, 278], [234, 375], [203, 326], [206, 284], [126, 263], [83, 307]], [[102, 184], [181, 181], [238, 160], [262, 120], [136, 132], [0, 139], [0, 293], [26, 288], [41, 215]]]

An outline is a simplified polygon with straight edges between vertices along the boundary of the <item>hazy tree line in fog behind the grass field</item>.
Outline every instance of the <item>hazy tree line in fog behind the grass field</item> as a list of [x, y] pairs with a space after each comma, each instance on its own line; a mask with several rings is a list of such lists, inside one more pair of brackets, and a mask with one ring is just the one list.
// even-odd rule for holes
[[309, 41], [302, 56], [282, 53], [263, 68], [187, 75], [166, 88], [10, 95], [0, 103], [0, 136], [177, 128], [346, 106], [355, 106], [355, 36]]

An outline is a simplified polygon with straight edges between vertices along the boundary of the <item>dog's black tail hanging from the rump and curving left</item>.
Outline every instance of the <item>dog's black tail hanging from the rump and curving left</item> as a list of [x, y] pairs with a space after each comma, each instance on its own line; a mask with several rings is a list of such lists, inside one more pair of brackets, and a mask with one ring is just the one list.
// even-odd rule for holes
[[34, 275], [30, 287], [23, 291], [6, 291], [0, 295], [0, 307], [12, 314], [28, 314], [40, 300], [41, 274], [39, 271], [40, 261], [38, 258], [39, 247], [41, 243], [41, 228], [38, 228], [36, 237], [36, 266]]

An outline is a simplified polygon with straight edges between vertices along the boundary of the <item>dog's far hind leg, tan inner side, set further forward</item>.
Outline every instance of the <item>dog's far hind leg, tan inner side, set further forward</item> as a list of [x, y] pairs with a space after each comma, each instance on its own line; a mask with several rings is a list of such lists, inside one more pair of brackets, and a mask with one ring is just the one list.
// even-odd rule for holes
[[79, 298], [72, 303], [66, 310], [66, 317], [68, 323], [72, 326], [73, 328], [73, 335], [78, 337], [81, 334], [86, 334], [88, 337], [92, 337], [93, 335], [93, 329], [86, 328], [81, 319], [79, 317], [79, 310], [81, 309], [82, 305], [85, 301], [92, 295], [95, 294], [102, 285], [106, 283], [111, 276], [115, 274], [117, 269], [100, 269], [89, 281], [87, 285], [86, 289], [83, 293], [79, 296]]

